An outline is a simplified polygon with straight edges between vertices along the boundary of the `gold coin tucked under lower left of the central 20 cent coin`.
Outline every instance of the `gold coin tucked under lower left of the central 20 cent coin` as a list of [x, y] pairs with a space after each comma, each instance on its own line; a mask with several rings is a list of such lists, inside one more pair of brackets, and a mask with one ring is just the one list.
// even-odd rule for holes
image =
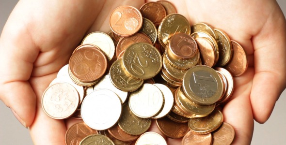
[[141, 87], [143, 79], [135, 78], [124, 68], [122, 59], [114, 61], [109, 70], [111, 83], [122, 91], [134, 91]]

